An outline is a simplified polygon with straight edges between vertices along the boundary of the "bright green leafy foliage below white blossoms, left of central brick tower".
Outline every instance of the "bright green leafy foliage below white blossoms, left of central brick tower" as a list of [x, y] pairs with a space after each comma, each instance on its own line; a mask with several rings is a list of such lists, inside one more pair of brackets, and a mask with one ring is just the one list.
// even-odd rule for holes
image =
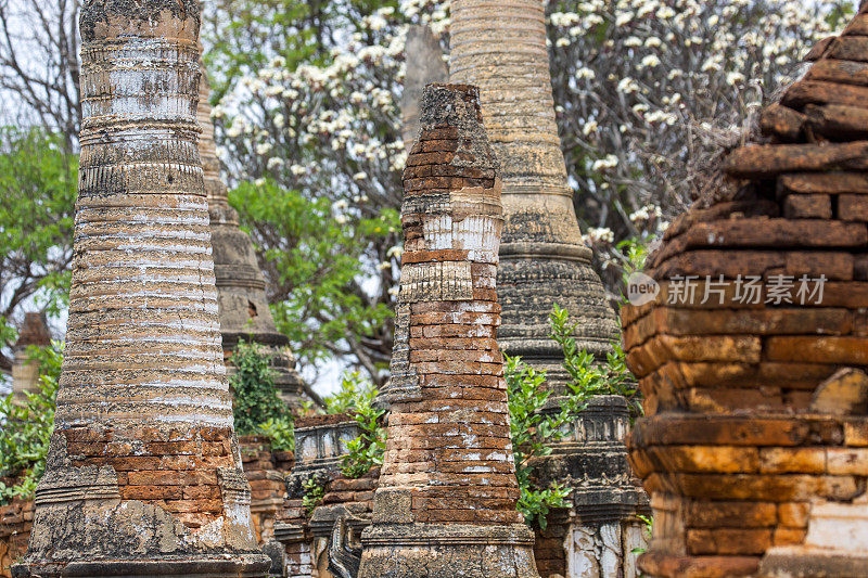
[[[241, 183], [230, 202], [263, 251], [275, 321], [302, 364], [347, 355], [348, 339], [372, 338], [391, 325], [391, 301], [372, 299], [358, 280], [382, 273], [366, 265], [366, 255], [399, 228], [396, 210], [345, 220], [328, 198], [311, 201], [272, 180]], [[369, 356], [361, 364], [379, 376], [387, 360]]]

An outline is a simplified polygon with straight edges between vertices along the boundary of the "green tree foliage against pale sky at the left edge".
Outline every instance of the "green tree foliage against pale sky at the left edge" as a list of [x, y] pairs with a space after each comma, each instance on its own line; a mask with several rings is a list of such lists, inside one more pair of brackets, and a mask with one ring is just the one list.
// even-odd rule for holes
[[34, 299], [49, 314], [68, 301], [78, 157], [64, 151], [60, 136], [0, 129], [0, 349]]

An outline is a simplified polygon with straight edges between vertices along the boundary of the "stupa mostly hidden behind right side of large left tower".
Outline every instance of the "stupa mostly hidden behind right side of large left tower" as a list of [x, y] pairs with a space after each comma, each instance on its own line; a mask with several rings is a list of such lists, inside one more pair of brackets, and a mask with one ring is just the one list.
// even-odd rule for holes
[[[240, 341], [265, 347], [275, 385], [291, 408], [299, 409], [311, 400], [322, 406], [322, 399], [302, 380], [295, 370], [295, 357], [289, 349], [289, 338], [280, 333], [271, 317], [266, 297], [266, 281], [256, 259], [251, 237], [239, 227], [238, 211], [229, 205], [227, 187], [220, 178], [220, 162], [214, 141], [210, 119], [210, 89], [204, 65], [199, 89], [199, 124], [202, 137], [199, 153], [205, 170], [205, 192], [208, 196], [214, 275], [217, 282], [217, 303], [220, 309], [220, 332], [224, 352], [229, 362]], [[229, 371], [233, 371], [231, 364]]]

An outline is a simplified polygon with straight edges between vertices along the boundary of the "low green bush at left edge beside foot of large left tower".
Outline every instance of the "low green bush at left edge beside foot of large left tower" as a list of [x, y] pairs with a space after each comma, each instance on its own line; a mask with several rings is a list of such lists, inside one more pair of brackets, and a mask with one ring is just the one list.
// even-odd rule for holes
[[26, 394], [21, 404], [12, 395], [0, 400], [0, 478], [15, 480], [12, 486], [0, 481], [0, 505], [33, 497], [46, 471], [63, 354], [55, 344], [31, 347], [30, 358], [40, 364], [39, 390]]

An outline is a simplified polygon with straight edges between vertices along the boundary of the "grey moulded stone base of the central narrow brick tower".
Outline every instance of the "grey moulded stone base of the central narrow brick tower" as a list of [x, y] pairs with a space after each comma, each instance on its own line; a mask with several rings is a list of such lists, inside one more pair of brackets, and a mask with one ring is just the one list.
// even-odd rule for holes
[[358, 578], [539, 578], [523, 524], [375, 525], [361, 543]]

